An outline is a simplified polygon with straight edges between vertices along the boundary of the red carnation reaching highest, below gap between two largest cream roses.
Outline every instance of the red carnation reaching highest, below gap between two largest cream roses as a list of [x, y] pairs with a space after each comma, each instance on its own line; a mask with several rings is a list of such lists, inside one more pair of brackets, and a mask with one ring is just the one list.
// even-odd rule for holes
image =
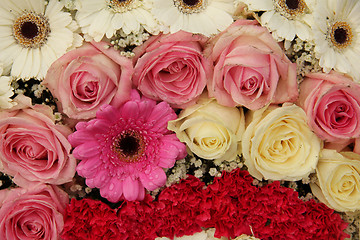
[[205, 193], [207, 204], [202, 209], [210, 212], [211, 219], [204, 226], [215, 227], [215, 237], [234, 238], [242, 233], [251, 233], [246, 216], [257, 211], [254, 199], [257, 188], [251, 185], [252, 181], [247, 171], [236, 169], [230, 173], [223, 172], [208, 186]]

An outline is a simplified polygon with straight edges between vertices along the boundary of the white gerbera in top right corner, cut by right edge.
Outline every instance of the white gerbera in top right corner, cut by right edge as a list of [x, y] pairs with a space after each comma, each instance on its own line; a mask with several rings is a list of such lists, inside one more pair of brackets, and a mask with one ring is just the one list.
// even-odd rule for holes
[[314, 11], [315, 54], [325, 72], [335, 69], [360, 81], [360, 2], [321, 0]]

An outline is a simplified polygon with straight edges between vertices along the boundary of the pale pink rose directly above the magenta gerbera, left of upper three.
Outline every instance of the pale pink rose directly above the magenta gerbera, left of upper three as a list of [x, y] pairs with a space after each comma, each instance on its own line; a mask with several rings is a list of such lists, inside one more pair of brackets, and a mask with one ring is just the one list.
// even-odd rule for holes
[[130, 59], [105, 42], [85, 43], [56, 60], [44, 84], [58, 99], [58, 108], [73, 119], [95, 117], [103, 104], [120, 106], [130, 98]]

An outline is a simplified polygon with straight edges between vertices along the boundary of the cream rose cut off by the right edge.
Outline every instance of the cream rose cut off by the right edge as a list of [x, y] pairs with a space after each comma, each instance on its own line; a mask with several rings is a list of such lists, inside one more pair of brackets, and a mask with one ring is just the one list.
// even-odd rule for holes
[[323, 149], [316, 167], [318, 181], [313, 194], [339, 212], [360, 210], [360, 155]]

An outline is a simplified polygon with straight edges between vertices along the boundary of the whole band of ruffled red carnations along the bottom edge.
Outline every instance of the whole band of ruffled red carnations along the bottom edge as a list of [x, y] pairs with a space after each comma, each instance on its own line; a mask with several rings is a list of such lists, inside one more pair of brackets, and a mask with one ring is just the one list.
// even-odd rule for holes
[[198, 178], [188, 176], [155, 200], [146, 195], [144, 201], [125, 201], [114, 210], [100, 201], [73, 199], [66, 209], [68, 221], [62, 237], [89, 239], [92, 233], [93, 239], [182, 239], [200, 237], [204, 228], [216, 229], [212, 239], [235, 239], [243, 234], [258, 239], [348, 236], [343, 232], [347, 224], [324, 204], [303, 202], [279, 182], [256, 187], [252, 181], [248, 172], [239, 169], [224, 172], [207, 188]]

